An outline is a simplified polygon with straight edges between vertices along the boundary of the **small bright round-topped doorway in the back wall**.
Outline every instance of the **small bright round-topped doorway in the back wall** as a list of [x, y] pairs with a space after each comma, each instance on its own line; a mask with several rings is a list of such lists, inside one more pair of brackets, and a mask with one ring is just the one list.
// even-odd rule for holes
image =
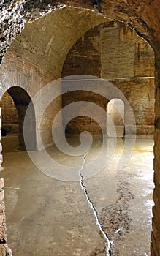
[[121, 99], [111, 99], [107, 105], [107, 135], [123, 138], [124, 129], [124, 102]]

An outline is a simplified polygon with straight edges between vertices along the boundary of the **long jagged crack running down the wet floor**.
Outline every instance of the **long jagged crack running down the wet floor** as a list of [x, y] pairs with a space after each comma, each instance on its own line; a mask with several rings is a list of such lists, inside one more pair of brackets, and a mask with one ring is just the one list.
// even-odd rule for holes
[[81, 167], [80, 170], [79, 170], [79, 175], [80, 175], [80, 187], [83, 189], [83, 192], [84, 192], [85, 197], [86, 197], [86, 199], [87, 199], [87, 201], [88, 201], [88, 204], [89, 204], [89, 206], [91, 207], [91, 209], [92, 209], [92, 211], [93, 211], [93, 213], [94, 213], [94, 217], [95, 217], [95, 219], [96, 219], [96, 225], [99, 227], [99, 230], [100, 230], [100, 232], [102, 233], [102, 235], [104, 236], [104, 240], [106, 241], [106, 243], [105, 243], [106, 254], [105, 254], [105, 255], [106, 255], [106, 256], [111, 256], [111, 255], [112, 255], [112, 254], [111, 254], [111, 244], [112, 244], [112, 241], [110, 241], [110, 239], [108, 238], [107, 233], [104, 232], [104, 229], [103, 229], [101, 223], [99, 222], [99, 217], [98, 217], [98, 212], [96, 211], [96, 207], [94, 206], [94, 203], [91, 201], [91, 199], [90, 199], [90, 197], [89, 197], [89, 195], [88, 195], [87, 188], [86, 188], [85, 185], [83, 184], [83, 179], [84, 179], [84, 177], [83, 177], [83, 175], [82, 175], [81, 172], [82, 172], [83, 167], [84, 167], [84, 165], [85, 165], [85, 162], [86, 162], [85, 157], [87, 156], [88, 152], [89, 152], [89, 151], [87, 151], [87, 152], [83, 155], [83, 165], [82, 165], [82, 167]]

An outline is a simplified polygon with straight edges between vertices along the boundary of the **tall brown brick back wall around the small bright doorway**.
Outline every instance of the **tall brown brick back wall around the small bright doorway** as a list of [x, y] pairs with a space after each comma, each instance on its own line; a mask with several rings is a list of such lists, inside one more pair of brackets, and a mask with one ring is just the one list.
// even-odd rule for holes
[[[85, 33], [69, 51], [62, 76], [95, 75], [110, 80], [117, 86], [134, 111], [137, 134], [153, 134], [154, 122], [154, 54], [152, 48], [132, 29], [121, 23], [104, 23]], [[86, 92], [85, 92], [86, 94]], [[85, 100], [99, 104], [102, 99], [97, 94], [92, 97], [82, 94], [65, 94], [63, 106], [71, 101]], [[100, 103], [107, 109], [107, 101]], [[96, 114], [96, 113], [95, 113]], [[128, 120], [127, 109], [125, 118]], [[129, 121], [129, 120], [128, 120]], [[67, 132], [85, 129], [99, 133], [98, 124], [88, 118], [75, 118], [69, 122]], [[107, 122], [104, 118], [104, 126]], [[93, 128], [92, 128], [93, 126]]]

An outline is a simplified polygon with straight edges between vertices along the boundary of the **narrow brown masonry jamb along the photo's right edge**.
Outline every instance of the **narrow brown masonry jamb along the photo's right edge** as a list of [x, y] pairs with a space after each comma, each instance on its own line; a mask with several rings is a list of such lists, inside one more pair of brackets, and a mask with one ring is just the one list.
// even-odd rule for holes
[[151, 255], [160, 255], [160, 42], [155, 45], [155, 132], [154, 132], [154, 184], [153, 191], [153, 232], [151, 235]]

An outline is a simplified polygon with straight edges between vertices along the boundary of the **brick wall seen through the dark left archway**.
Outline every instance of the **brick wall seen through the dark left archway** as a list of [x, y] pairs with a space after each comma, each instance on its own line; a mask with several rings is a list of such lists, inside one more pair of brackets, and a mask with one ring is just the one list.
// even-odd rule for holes
[[1, 97], [1, 122], [7, 132], [18, 132], [18, 113], [12, 97], [7, 92]]

